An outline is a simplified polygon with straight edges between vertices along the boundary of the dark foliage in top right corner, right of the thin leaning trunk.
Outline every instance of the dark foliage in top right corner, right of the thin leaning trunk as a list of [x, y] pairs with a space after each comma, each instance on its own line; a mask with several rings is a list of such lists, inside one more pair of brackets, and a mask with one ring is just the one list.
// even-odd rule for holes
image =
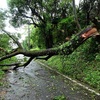
[[[92, 5], [92, 6], [91, 6]], [[89, 25], [94, 17], [100, 19], [100, 1], [99, 0], [82, 0], [80, 3], [80, 11], [79, 14], [82, 15], [84, 20], [84, 24]]]

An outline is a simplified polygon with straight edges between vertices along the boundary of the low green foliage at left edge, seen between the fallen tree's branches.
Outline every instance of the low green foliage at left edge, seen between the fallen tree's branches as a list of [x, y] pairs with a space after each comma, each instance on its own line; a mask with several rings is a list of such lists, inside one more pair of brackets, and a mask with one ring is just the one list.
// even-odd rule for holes
[[[6, 35], [6, 34], [0, 34], [0, 47], [3, 48], [5, 51], [9, 51], [11, 49], [11, 45], [10, 45], [10, 38]], [[6, 49], [5, 49], [6, 48]], [[5, 55], [5, 51], [0, 50], [0, 56]], [[0, 64], [5, 64], [6, 63], [12, 63], [14, 61], [17, 61], [17, 58], [13, 57], [10, 59], [7, 59], [5, 61], [0, 62]], [[0, 66], [0, 80], [2, 80], [2, 78], [4, 77], [4, 70], [7, 70], [8, 67], [3, 67]], [[0, 82], [0, 85], [3, 85], [2, 82]]]

